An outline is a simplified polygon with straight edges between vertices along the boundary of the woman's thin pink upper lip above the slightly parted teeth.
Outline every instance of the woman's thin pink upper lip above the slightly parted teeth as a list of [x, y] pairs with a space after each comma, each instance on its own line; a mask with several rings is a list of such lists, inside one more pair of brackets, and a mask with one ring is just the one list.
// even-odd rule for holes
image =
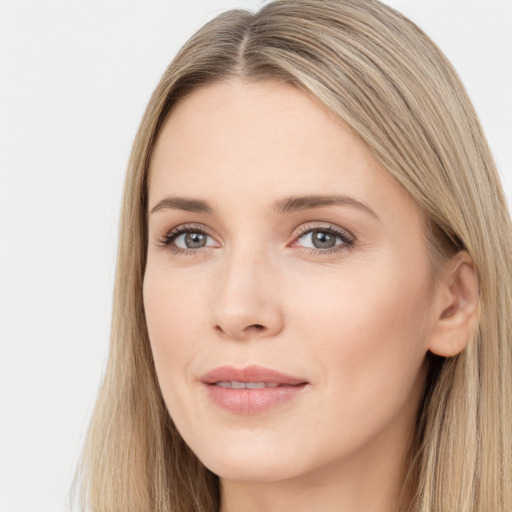
[[215, 384], [216, 382], [271, 382], [278, 384], [288, 384], [290, 386], [304, 384], [307, 381], [300, 377], [293, 377], [271, 368], [263, 366], [247, 366], [245, 368], [234, 368], [233, 366], [220, 366], [214, 370], [205, 373], [201, 377], [201, 382], [205, 384]]

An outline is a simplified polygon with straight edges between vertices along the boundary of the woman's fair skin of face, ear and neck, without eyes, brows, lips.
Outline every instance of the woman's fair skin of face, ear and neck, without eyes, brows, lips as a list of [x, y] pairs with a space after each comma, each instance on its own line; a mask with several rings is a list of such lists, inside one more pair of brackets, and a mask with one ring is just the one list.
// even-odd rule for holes
[[[374, 213], [273, 211], [310, 194]], [[149, 213], [144, 307], [165, 403], [220, 476], [221, 511], [396, 512], [425, 355], [459, 352], [469, 329], [467, 258], [435, 278], [421, 209], [342, 122], [282, 83], [232, 80], [182, 100], [153, 154], [149, 211], [169, 196], [212, 212]], [[177, 254], [184, 236], [162, 241], [184, 224], [206, 245]], [[336, 238], [328, 253], [299, 233], [328, 226], [353, 246]], [[309, 384], [252, 416], [210, 401], [202, 375], [252, 364]]]

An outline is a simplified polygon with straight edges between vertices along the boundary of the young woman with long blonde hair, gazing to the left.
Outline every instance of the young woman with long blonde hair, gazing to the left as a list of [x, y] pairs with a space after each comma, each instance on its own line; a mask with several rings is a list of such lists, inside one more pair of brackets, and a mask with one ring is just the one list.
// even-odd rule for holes
[[205, 25], [122, 213], [94, 511], [505, 511], [510, 220], [465, 90], [374, 0]]

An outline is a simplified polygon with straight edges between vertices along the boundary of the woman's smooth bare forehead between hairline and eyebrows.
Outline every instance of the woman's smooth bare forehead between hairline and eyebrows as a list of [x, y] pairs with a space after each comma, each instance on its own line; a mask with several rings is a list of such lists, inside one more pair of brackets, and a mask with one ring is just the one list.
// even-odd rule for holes
[[150, 205], [162, 194], [245, 208], [326, 193], [421, 215], [340, 119], [284, 83], [232, 80], [195, 90], [167, 118], [152, 158]]

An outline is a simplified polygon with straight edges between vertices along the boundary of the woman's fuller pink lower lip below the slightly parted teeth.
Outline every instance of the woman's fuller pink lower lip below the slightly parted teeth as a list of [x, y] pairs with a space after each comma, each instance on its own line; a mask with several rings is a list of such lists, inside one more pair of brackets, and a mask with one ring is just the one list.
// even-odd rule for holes
[[232, 389], [214, 384], [205, 385], [213, 403], [234, 414], [249, 416], [293, 400], [306, 387], [306, 383], [263, 389]]

